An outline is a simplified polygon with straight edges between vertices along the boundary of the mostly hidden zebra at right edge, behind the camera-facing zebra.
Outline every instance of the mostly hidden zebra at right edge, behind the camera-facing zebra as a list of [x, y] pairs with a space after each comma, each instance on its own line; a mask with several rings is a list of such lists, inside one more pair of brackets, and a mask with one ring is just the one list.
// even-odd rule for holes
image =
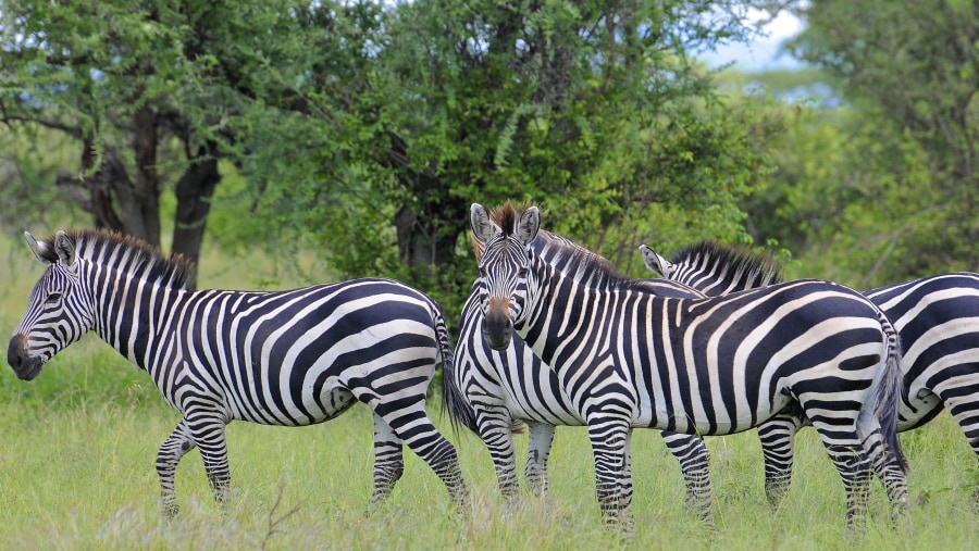
[[[782, 276], [770, 259], [732, 253], [716, 243], [681, 250], [672, 262], [641, 248], [646, 267], [707, 293], [723, 295], [719, 274], [767, 274], [745, 286], [765, 286]], [[894, 325], [901, 338], [904, 376], [897, 431], [918, 428], [947, 409], [979, 458], [979, 274], [958, 272], [871, 289], [864, 295]], [[765, 492], [778, 505], [792, 479], [795, 433], [809, 426], [797, 406], [758, 427], [765, 461]], [[884, 480], [885, 484], [888, 480]], [[890, 489], [889, 489], [890, 491]], [[979, 504], [979, 489], [975, 500]]]

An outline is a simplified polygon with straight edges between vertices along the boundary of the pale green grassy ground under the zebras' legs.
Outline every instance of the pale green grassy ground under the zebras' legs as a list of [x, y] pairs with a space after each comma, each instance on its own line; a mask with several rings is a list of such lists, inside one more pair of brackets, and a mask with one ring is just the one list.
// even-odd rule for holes
[[[235, 262], [245, 261], [227, 261]], [[40, 272], [20, 240], [0, 239], [4, 341]], [[255, 276], [238, 268], [225, 268], [220, 278], [234, 287], [259, 280], [234, 280], [241, 273], [294, 283], [282, 274]], [[216, 286], [214, 276], [201, 273], [201, 286]], [[637, 431], [636, 533], [622, 541], [602, 528], [584, 430], [558, 430], [547, 499], [523, 493], [507, 503], [483, 443], [468, 433], [453, 434], [437, 399], [429, 411], [459, 451], [472, 492], [468, 514], [454, 511], [442, 483], [410, 451], [391, 500], [365, 514], [372, 426], [368, 409], [357, 406], [307, 428], [232, 424], [234, 490], [226, 510], [214, 505], [195, 451], [177, 471], [183, 512], [166, 522], [153, 461], [179, 417], [148, 376], [88, 336], [32, 383], [17, 380], [5, 365], [0, 370], [0, 548], [965, 550], [979, 544], [971, 490], [976, 459], [947, 414], [901, 437], [912, 465], [909, 526], [889, 526], [883, 490], [876, 484], [871, 516], [859, 537], [844, 536], [842, 485], [811, 430], [800, 436], [793, 487], [778, 511], [764, 497], [754, 433], [708, 439], [714, 530], [684, 513], [679, 468], [658, 434]], [[525, 436], [518, 437], [518, 446], [522, 454]]]

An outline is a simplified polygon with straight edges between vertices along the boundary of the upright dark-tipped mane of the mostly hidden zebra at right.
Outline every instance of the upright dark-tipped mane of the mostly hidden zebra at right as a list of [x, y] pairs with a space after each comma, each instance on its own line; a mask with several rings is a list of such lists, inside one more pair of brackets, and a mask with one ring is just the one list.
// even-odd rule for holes
[[673, 256], [673, 263], [695, 266], [704, 272], [717, 270], [718, 279], [742, 281], [749, 287], [784, 280], [782, 266], [771, 253], [758, 253], [743, 246], [720, 245], [709, 239], [683, 248]]

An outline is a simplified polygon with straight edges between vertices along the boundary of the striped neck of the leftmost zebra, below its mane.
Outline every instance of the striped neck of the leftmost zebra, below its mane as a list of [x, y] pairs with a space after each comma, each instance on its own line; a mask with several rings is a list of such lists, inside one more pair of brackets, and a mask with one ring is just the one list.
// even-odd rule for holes
[[117, 271], [91, 272], [94, 330], [123, 356], [149, 371], [163, 347], [165, 328], [173, 323], [175, 304], [188, 291]]

